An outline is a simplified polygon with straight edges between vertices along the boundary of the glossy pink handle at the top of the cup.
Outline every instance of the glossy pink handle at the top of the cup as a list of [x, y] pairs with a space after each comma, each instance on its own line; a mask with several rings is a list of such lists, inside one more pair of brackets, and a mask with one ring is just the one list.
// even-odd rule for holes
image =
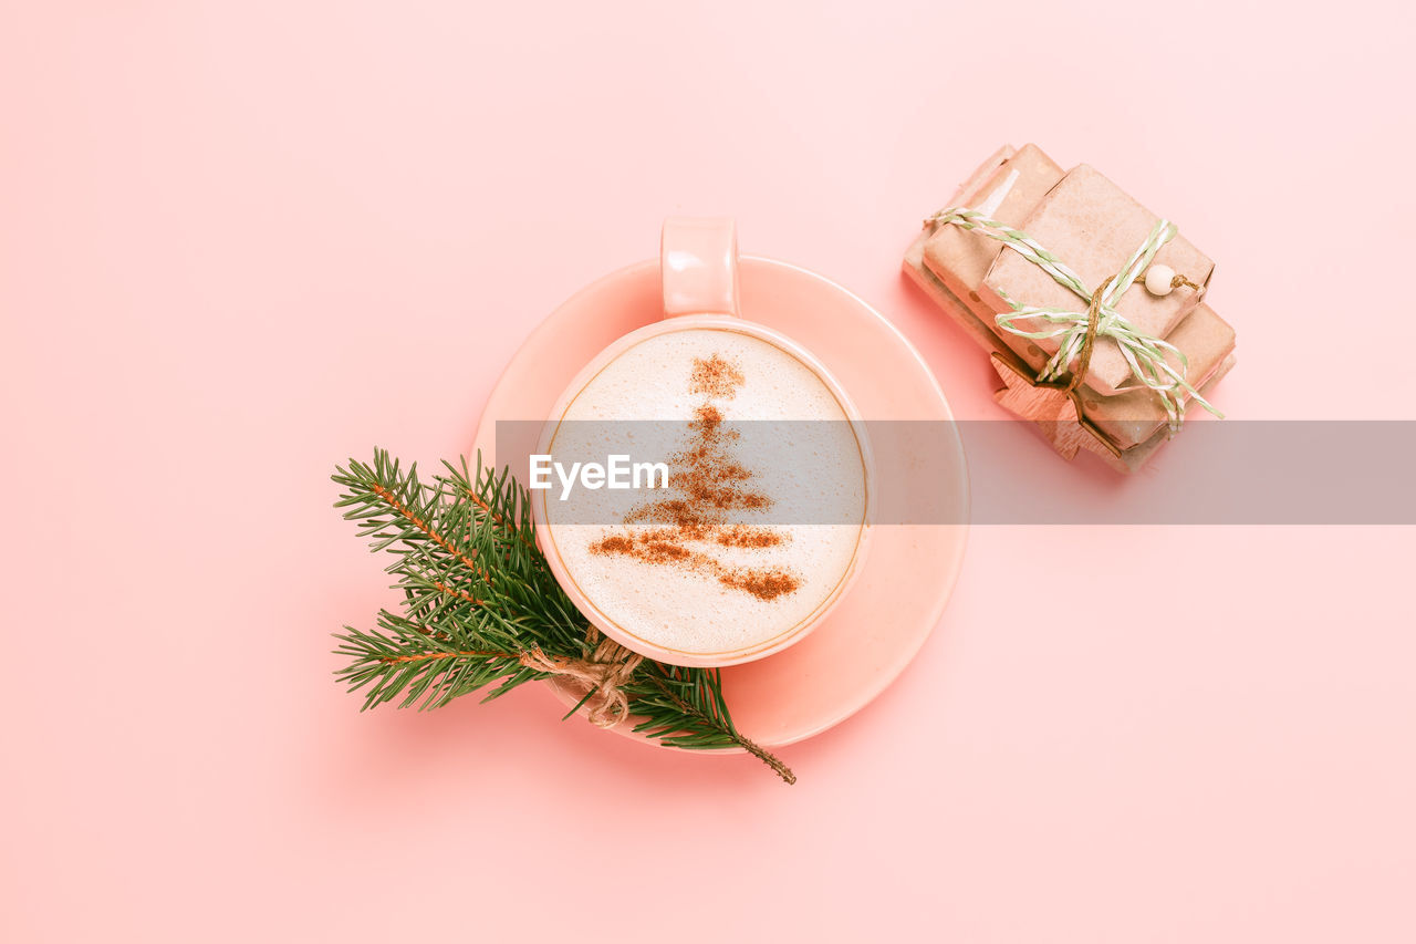
[[738, 315], [738, 224], [670, 217], [658, 249], [664, 318]]

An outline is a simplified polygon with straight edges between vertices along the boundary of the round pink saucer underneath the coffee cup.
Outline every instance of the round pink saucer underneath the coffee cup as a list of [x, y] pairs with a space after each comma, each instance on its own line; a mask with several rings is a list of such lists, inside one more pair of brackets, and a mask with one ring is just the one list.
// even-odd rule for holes
[[[865, 302], [786, 262], [742, 257], [742, 316], [816, 354], [865, 420], [953, 420], [919, 352]], [[487, 400], [473, 452], [496, 456], [497, 420], [542, 420], [596, 353], [661, 316], [658, 259], [613, 272], [558, 308], [517, 352]], [[963, 446], [935, 481], [967, 520]], [[527, 452], [534, 442], [525, 445]], [[518, 462], [524, 456], [511, 456]], [[937, 456], [932, 456], [937, 463]], [[868, 704], [909, 665], [949, 602], [967, 537], [964, 524], [878, 526], [850, 594], [797, 645], [722, 670], [738, 729], [767, 747], [820, 734]], [[555, 689], [555, 686], [551, 686]], [[566, 704], [573, 697], [556, 690]], [[615, 729], [632, 734], [629, 726]], [[657, 743], [657, 741], [654, 741]]]

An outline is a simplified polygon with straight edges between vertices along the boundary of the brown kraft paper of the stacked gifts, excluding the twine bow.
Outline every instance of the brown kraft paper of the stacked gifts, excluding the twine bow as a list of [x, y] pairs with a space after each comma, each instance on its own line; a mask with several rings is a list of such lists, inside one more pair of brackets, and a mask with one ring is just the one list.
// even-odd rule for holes
[[[952, 206], [1025, 231], [1087, 288], [1120, 271], [1157, 223], [1092, 167], [1063, 172], [1034, 145], [995, 152], [960, 187]], [[1214, 271], [1214, 262], [1182, 235], [1163, 245], [1153, 264], [1168, 265], [1201, 286]], [[906, 252], [905, 269], [984, 349], [1034, 377], [1056, 352], [1056, 342], [998, 327], [994, 318], [1011, 310], [1003, 295], [1034, 306], [1087, 308], [1085, 299], [1003, 242], [956, 225], [926, 228]], [[1233, 366], [1233, 329], [1191, 288], [1151, 295], [1138, 279], [1116, 310], [1141, 332], [1175, 344], [1188, 359], [1187, 380], [1201, 394]], [[1178, 367], [1178, 360], [1170, 363]], [[1136, 381], [1110, 337], [1096, 339], [1078, 403], [1086, 421], [1109, 441], [1107, 449], [1121, 454], [1112, 456], [1117, 468], [1137, 468], [1165, 439], [1161, 400]]]

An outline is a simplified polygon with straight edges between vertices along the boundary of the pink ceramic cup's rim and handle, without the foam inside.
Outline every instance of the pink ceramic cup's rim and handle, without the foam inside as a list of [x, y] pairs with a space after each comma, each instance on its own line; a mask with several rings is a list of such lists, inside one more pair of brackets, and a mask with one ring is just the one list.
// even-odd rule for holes
[[545, 429], [537, 446], [538, 454], [551, 454], [555, 432], [559, 428], [571, 403], [589, 381], [623, 352], [649, 337], [691, 329], [715, 329], [749, 335], [792, 354], [809, 367], [835, 397], [843, 412], [850, 420], [855, 441], [861, 449], [865, 471], [867, 517], [861, 524], [855, 554], [845, 573], [841, 574], [833, 591], [820, 605], [792, 629], [770, 639], [728, 652], [685, 652], [668, 649], [649, 639], [641, 639], [619, 625], [609, 614], [590, 601], [568, 571], [565, 560], [555, 541], [554, 527], [548, 522], [548, 502], [554, 500], [548, 490], [531, 492], [531, 507], [535, 517], [539, 544], [556, 581], [571, 597], [571, 601], [606, 636], [620, 645], [658, 662], [685, 666], [728, 666], [766, 658], [807, 636], [826, 619], [827, 614], [845, 595], [857, 574], [869, 539], [869, 509], [874, 507], [875, 471], [869, 442], [860, 412], [851, 398], [810, 352], [763, 325], [749, 322], [738, 313], [738, 235], [732, 220], [673, 217], [664, 221], [660, 244], [663, 272], [664, 320], [647, 325], [624, 335], [602, 350], [576, 374], [565, 388], [547, 420]]

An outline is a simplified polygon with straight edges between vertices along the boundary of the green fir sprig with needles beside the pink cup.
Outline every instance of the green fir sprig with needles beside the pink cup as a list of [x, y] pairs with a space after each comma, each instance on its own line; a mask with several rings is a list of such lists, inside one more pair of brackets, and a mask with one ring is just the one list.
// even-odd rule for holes
[[[490, 700], [549, 678], [521, 663], [534, 648], [552, 659], [590, 655], [589, 622], [551, 574], [530, 496], [508, 469], [483, 468], [479, 455], [474, 468], [445, 462], [423, 479], [416, 463], [405, 469], [375, 449], [371, 463], [351, 459], [331, 478], [341, 489], [334, 506], [392, 556], [388, 573], [404, 595], [402, 611], [379, 611], [374, 629], [336, 634], [347, 661], [336, 675], [362, 693], [364, 709], [435, 709], [473, 692]], [[646, 659], [622, 687], [637, 733], [685, 750], [742, 748], [796, 782], [738, 731], [716, 669]]]

